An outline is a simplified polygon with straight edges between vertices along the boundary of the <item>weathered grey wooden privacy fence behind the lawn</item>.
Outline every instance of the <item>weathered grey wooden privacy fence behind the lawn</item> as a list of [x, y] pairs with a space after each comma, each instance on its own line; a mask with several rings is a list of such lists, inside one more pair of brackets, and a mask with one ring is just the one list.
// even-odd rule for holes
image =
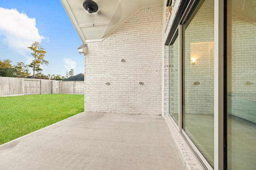
[[0, 96], [52, 94], [53, 88], [57, 94], [84, 94], [84, 81], [0, 77]]

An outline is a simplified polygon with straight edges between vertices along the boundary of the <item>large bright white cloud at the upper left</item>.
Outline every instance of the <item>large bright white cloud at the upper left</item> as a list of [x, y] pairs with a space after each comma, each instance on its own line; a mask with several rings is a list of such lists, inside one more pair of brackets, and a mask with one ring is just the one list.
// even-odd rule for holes
[[25, 13], [16, 9], [0, 7], [0, 42], [6, 44], [12, 51], [26, 55], [30, 52], [27, 47], [34, 42], [41, 42], [36, 28], [36, 19], [29, 18]]

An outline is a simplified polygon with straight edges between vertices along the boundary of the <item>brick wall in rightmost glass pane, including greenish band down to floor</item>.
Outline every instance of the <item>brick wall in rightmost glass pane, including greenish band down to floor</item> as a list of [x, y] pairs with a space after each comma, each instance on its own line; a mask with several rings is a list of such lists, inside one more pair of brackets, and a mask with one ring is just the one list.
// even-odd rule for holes
[[[256, 123], [256, 26], [232, 16], [232, 85], [228, 113]], [[251, 83], [250, 83], [251, 82]], [[254, 83], [252, 83], [254, 82]]]

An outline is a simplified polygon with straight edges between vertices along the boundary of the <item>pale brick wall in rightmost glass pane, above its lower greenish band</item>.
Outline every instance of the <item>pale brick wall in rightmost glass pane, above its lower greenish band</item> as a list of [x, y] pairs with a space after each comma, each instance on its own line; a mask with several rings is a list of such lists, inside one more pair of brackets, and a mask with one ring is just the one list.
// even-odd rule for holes
[[232, 93], [256, 101], [256, 25], [235, 16], [232, 17]]

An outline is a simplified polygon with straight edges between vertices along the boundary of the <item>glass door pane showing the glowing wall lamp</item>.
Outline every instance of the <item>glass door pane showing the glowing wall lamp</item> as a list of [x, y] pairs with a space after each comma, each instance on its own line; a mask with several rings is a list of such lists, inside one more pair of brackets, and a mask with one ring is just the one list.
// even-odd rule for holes
[[182, 128], [214, 166], [214, 0], [200, 5], [184, 25]]

